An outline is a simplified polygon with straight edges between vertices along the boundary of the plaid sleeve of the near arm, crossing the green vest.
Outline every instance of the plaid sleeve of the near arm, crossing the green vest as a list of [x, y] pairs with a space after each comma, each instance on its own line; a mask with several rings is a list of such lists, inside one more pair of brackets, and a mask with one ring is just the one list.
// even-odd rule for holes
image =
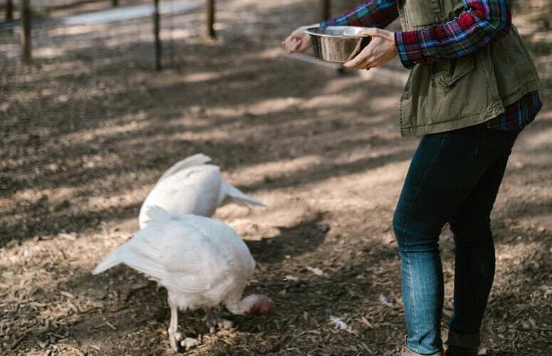
[[397, 51], [406, 68], [444, 58], [467, 56], [509, 33], [506, 0], [462, 0], [464, 11], [447, 23], [395, 33]]

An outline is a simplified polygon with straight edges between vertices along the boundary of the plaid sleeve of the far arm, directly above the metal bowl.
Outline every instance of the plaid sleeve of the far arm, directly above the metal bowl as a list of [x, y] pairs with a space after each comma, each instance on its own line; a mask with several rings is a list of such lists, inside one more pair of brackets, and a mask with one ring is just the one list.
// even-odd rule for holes
[[358, 6], [353, 11], [324, 21], [321, 27], [327, 26], [366, 26], [385, 28], [393, 20], [397, 19], [397, 1], [395, 0], [370, 0]]

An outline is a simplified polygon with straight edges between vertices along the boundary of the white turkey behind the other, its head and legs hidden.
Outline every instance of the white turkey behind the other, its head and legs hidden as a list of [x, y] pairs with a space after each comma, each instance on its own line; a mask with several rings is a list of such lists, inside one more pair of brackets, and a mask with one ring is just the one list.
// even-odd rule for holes
[[210, 157], [199, 153], [170, 167], [157, 181], [140, 208], [140, 229], [147, 225], [149, 219], [146, 211], [150, 206], [160, 206], [171, 214], [212, 216], [218, 206], [230, 201], [263, 205], [224, 182], [219, 166], [207, 164], [210, 161]]

